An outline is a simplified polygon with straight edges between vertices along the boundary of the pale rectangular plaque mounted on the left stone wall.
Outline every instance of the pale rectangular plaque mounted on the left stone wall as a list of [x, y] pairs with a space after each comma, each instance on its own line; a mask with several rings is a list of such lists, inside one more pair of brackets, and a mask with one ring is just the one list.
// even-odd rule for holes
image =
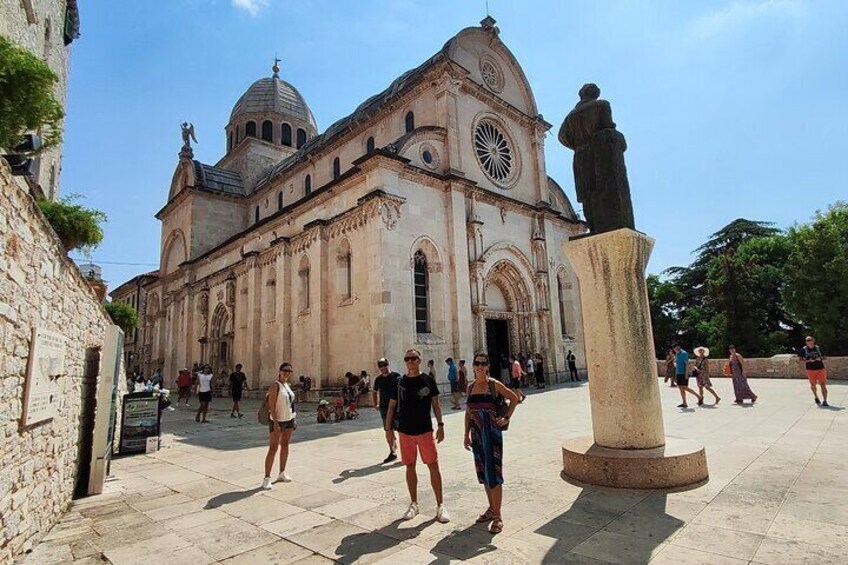
[[24, 386], [23, 425], [31, 426], [56, 417], [59, 378], [65, 375], [67, 341], [60, 333], [32, 329], [32, 342]]

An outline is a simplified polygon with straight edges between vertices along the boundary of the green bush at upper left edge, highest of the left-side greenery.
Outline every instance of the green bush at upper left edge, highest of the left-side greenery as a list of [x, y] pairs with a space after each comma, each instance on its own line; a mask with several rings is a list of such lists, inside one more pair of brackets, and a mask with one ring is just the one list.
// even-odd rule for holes
[[43, 147], [62, 137], [62, 105], [53, 95], [58, 80], [38, 57], [0, 36], [0, 147], [11, 149], [27, 131], [38, 131]]

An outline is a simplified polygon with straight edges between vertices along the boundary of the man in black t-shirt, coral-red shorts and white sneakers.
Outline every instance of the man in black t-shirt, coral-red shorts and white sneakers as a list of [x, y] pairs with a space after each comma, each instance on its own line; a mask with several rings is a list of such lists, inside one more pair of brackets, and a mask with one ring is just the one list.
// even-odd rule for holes
[[[386, 416], [386, 441], [394, 432], [392, 425], [397, 417], [400, 436], [400, 459], [406, 466], [406, 486], [409, 489], [409, 508], [403, 515], [411, 520], [418, 515], [418, 475], [415, 464], [418, 454], [430, 471], [430, 484], [436, 497], [436, 520], [450, 522], [450, 516], [442, 500], [442, 472], [439, 469], [439, 455], [436, 442], [445, 439], [445, 424], [442, 421], [442, 407], [439, 404], [439, 389], [436, 379], [421, 372], [421, 353], [417, 349], [408, 349], [403, 357], [406, 374], [397, 382], [389, 401]], [[430, 412], [436, 416], [438, 425], [435, 442], [433, 440], [433, 421]]]

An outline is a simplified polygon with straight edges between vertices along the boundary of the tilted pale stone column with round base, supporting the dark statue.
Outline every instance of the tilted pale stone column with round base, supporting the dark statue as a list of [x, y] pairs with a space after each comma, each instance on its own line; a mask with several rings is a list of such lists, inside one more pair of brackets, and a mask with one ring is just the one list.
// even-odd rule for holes
[[[653, 239], [626, 228], [563, 245], [580, 282], [593, 445], [602, 448], [590, 450], [583, 440], [578, 441], [582, 447], [574, 441], [563, 446], [565, 473], [584, 482], [592, 475], [587, 468], [605, 464], [609, 472], [600, 475], [608, 479], [588, 482], [640, 488], [626, 477], [639, 474], [636, 466], [643, 466], [645, 472], [646, 457], [664, 457], [665, 450], [660, 448], [666, 439], [645, 285], [653, 245]], [[686, 445], [682, 451], [674, 450], [674, 459], [688, 469], [688, 478], [667, 477], [668, 486], [707, 478], [703, 448], [698, 446], [689, 453], [686, 450], [694, 444]], [[622, 453], [618, 457], [616, 450], [640, 450], [641, 454]], [[690, 457], [700, 462], [687, 460]], [[604, 463], [606, 460], [608, 463]], [[675, 466], [674, 461], [667, 461], [662, 468], [673, 473]], [[628, 471], [629, 467], [634, 473]], [[640, 480], [638, 485], [643, 488], [645, 481]]]

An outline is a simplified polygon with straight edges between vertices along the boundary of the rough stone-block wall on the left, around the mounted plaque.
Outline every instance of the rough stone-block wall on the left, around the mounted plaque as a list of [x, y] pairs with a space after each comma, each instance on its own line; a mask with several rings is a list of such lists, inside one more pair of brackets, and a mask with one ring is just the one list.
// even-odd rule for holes
[[[8, 563], [38, 541], [71, 502], [86, 353], [102, 346], [109, 321], [26, 187], [2, 160], [0, 194], [0, 563]], [[57, 417], [23, 428], [34, 325], [67, 337], [67, 374], [59, 378]]]

